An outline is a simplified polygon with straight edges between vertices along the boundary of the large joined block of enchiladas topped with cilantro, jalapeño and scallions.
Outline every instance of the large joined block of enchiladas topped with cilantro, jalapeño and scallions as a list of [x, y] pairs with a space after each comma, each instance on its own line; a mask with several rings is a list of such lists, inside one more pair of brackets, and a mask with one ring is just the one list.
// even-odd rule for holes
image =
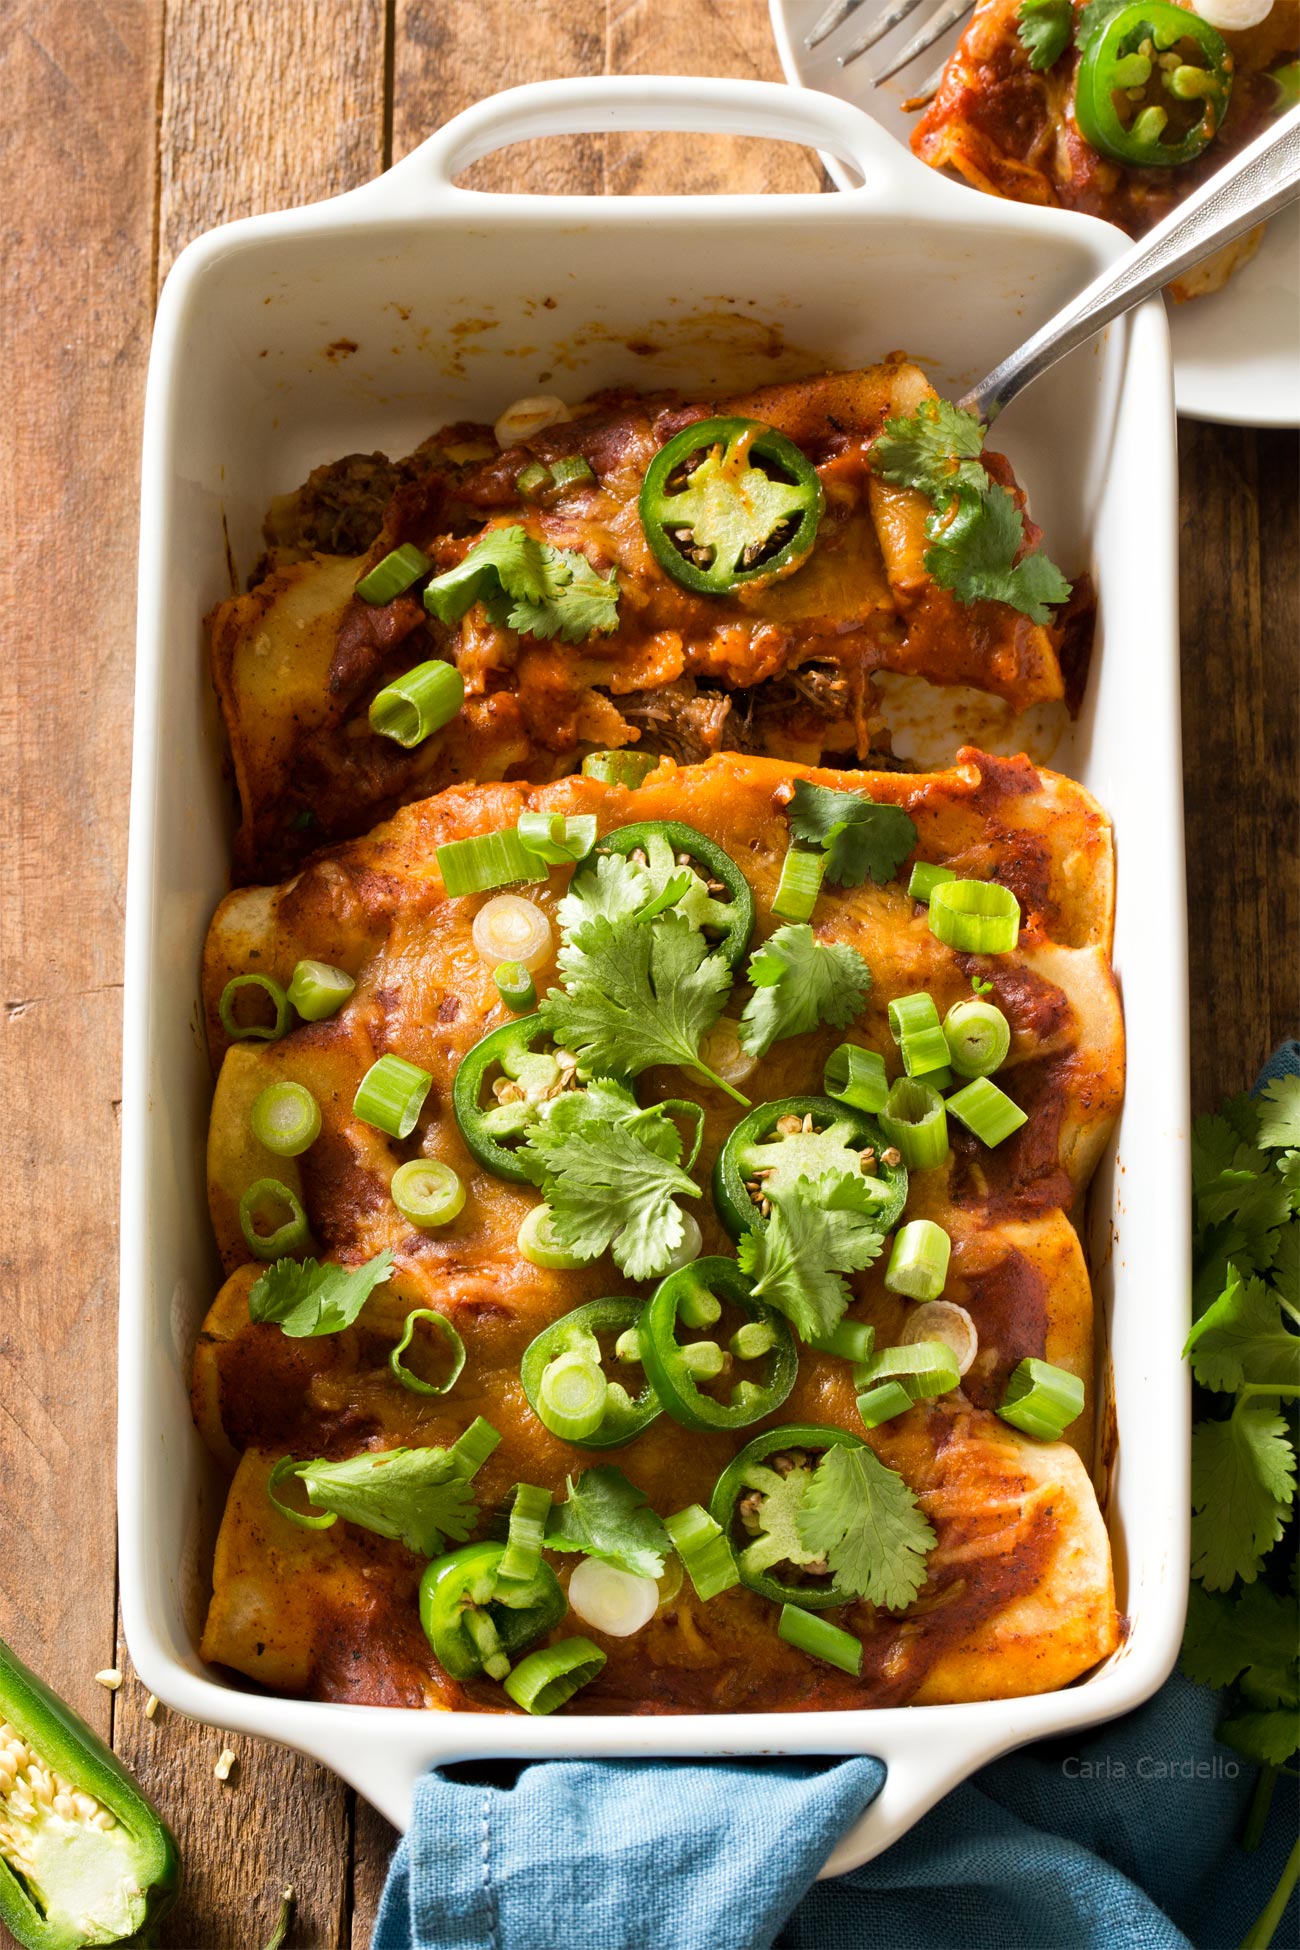
[[1070, 1223], [1123, 1090], [1111, 909], [1095, 801], [978, 751], [612, 749], [232, 893], [205, 1656], [698, 1712], [1115, 1650]]

